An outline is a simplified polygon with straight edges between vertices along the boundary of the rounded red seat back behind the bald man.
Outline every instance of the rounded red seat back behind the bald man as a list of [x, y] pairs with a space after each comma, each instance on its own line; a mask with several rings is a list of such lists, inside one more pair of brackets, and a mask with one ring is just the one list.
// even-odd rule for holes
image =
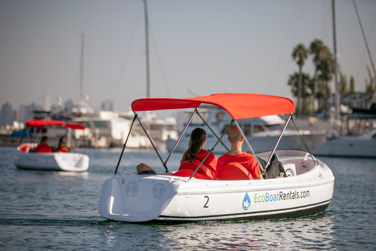
[[227, 163], [218, 173], [219, 180], [250, 180], [255, 179], [251, 172], [238, 162]]

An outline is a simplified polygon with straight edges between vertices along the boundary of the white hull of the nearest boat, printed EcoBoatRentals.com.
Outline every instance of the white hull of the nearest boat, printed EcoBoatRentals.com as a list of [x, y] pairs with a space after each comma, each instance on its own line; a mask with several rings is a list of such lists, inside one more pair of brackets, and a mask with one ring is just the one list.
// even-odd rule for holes
[[125, 222], [195, 222], [281, 219], [324, 211], [334, 189], [328, 166], [315, 165], [302, 152], [280, 160], [284, 166], [294, 166], [296, 176], [267, 180], [113, 177], [102, 186], [99, 214]]

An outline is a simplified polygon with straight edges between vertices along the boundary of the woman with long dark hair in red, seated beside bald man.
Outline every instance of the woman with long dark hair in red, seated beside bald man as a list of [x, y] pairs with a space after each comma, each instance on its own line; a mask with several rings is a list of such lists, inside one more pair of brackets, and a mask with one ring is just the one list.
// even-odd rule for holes
[[[188, 150], [183, 154], [179, 171], [173, 174], [173, 176], [191, 176], [193, 174], [193, 171], [196, 170], [209, 153], [209, 151], [204, 150], [207, 137], [206, 131], [199, 127], [191, 132]], [[211, 152], [193, 177], [214, 180], [216, 165], [217, 157]]]

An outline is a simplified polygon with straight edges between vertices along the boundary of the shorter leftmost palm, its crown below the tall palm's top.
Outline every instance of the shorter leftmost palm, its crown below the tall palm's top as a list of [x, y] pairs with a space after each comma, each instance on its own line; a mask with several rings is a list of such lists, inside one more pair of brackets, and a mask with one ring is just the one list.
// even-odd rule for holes
[[[313, 113], [311, 107], [311, 99], [313, 99], [313, 80], [308, 74], [302, 73], [302, 114]], [[289, 76], [287, 84], [291, 86], [291, 93], [294, 97], [298, 97], [298, 86], [299, 86], [300, 74], [295, 72], [293, 75]]]

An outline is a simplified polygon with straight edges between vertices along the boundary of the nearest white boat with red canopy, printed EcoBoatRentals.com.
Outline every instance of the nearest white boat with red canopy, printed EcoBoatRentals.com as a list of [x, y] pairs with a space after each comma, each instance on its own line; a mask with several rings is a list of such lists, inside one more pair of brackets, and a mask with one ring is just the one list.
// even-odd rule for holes
[[[142, 126], [136, 113], [138, 111], [192, 108], [193, 116], [195, 113], [199, 114], [200, 104], [213, 104], [223, 108], [233, 119], [232, 124], [238, 128], [240, 126], [236, 122], [237, 119], [290, 114], [282, 133], [295, 109], [292, 100], [257, 94], [216, 94], [188, 99], [141, 99], [133, 101], [132, 109], [135, 111], [134, 121], [137, 118]], [[215, 136], [221, 141], [224, 135], [227, 138], [227, 130], [222, 135]], [[192, 222], [280, 219], [324, 211], [332, 199], [334, 190], [334, 176], [331, 170], [309, 152], [275, 151], [280, 139], [281, 137], [273, 150], [258, 153], [256, 156], [267, 159], [268, 165], [271, 156], [277, 153], [288, 175], [284, 178], [226, 180], [230, 178], [221, 175], [223, 169], [219, 173], [219, 180], [196, 179], [192, 177], [193, 174], [190, 177], [171, 176], [172, 173], [168, 173], [167, 161], [173, 149], [165, 161], [158, 154], [166, 169], [165, 174], [124, 173], [123, 176], [117, 177], [118, 163], [114, 177], [107, 179], [102, 186], [99, 214], [110, 220], [125, 222]], [[249, 143], [246, 140], [245, 142], [255, 155]], [[125, 145], [126, 142], [124, 148]], [[215, 146], [209, 152], [213, 151]], [[123, 152], [120, 159], [122, 155]], [[200, 166], [195, 172], [199, 168]], [[178, 167], [174, 169], [177, 170]]]

